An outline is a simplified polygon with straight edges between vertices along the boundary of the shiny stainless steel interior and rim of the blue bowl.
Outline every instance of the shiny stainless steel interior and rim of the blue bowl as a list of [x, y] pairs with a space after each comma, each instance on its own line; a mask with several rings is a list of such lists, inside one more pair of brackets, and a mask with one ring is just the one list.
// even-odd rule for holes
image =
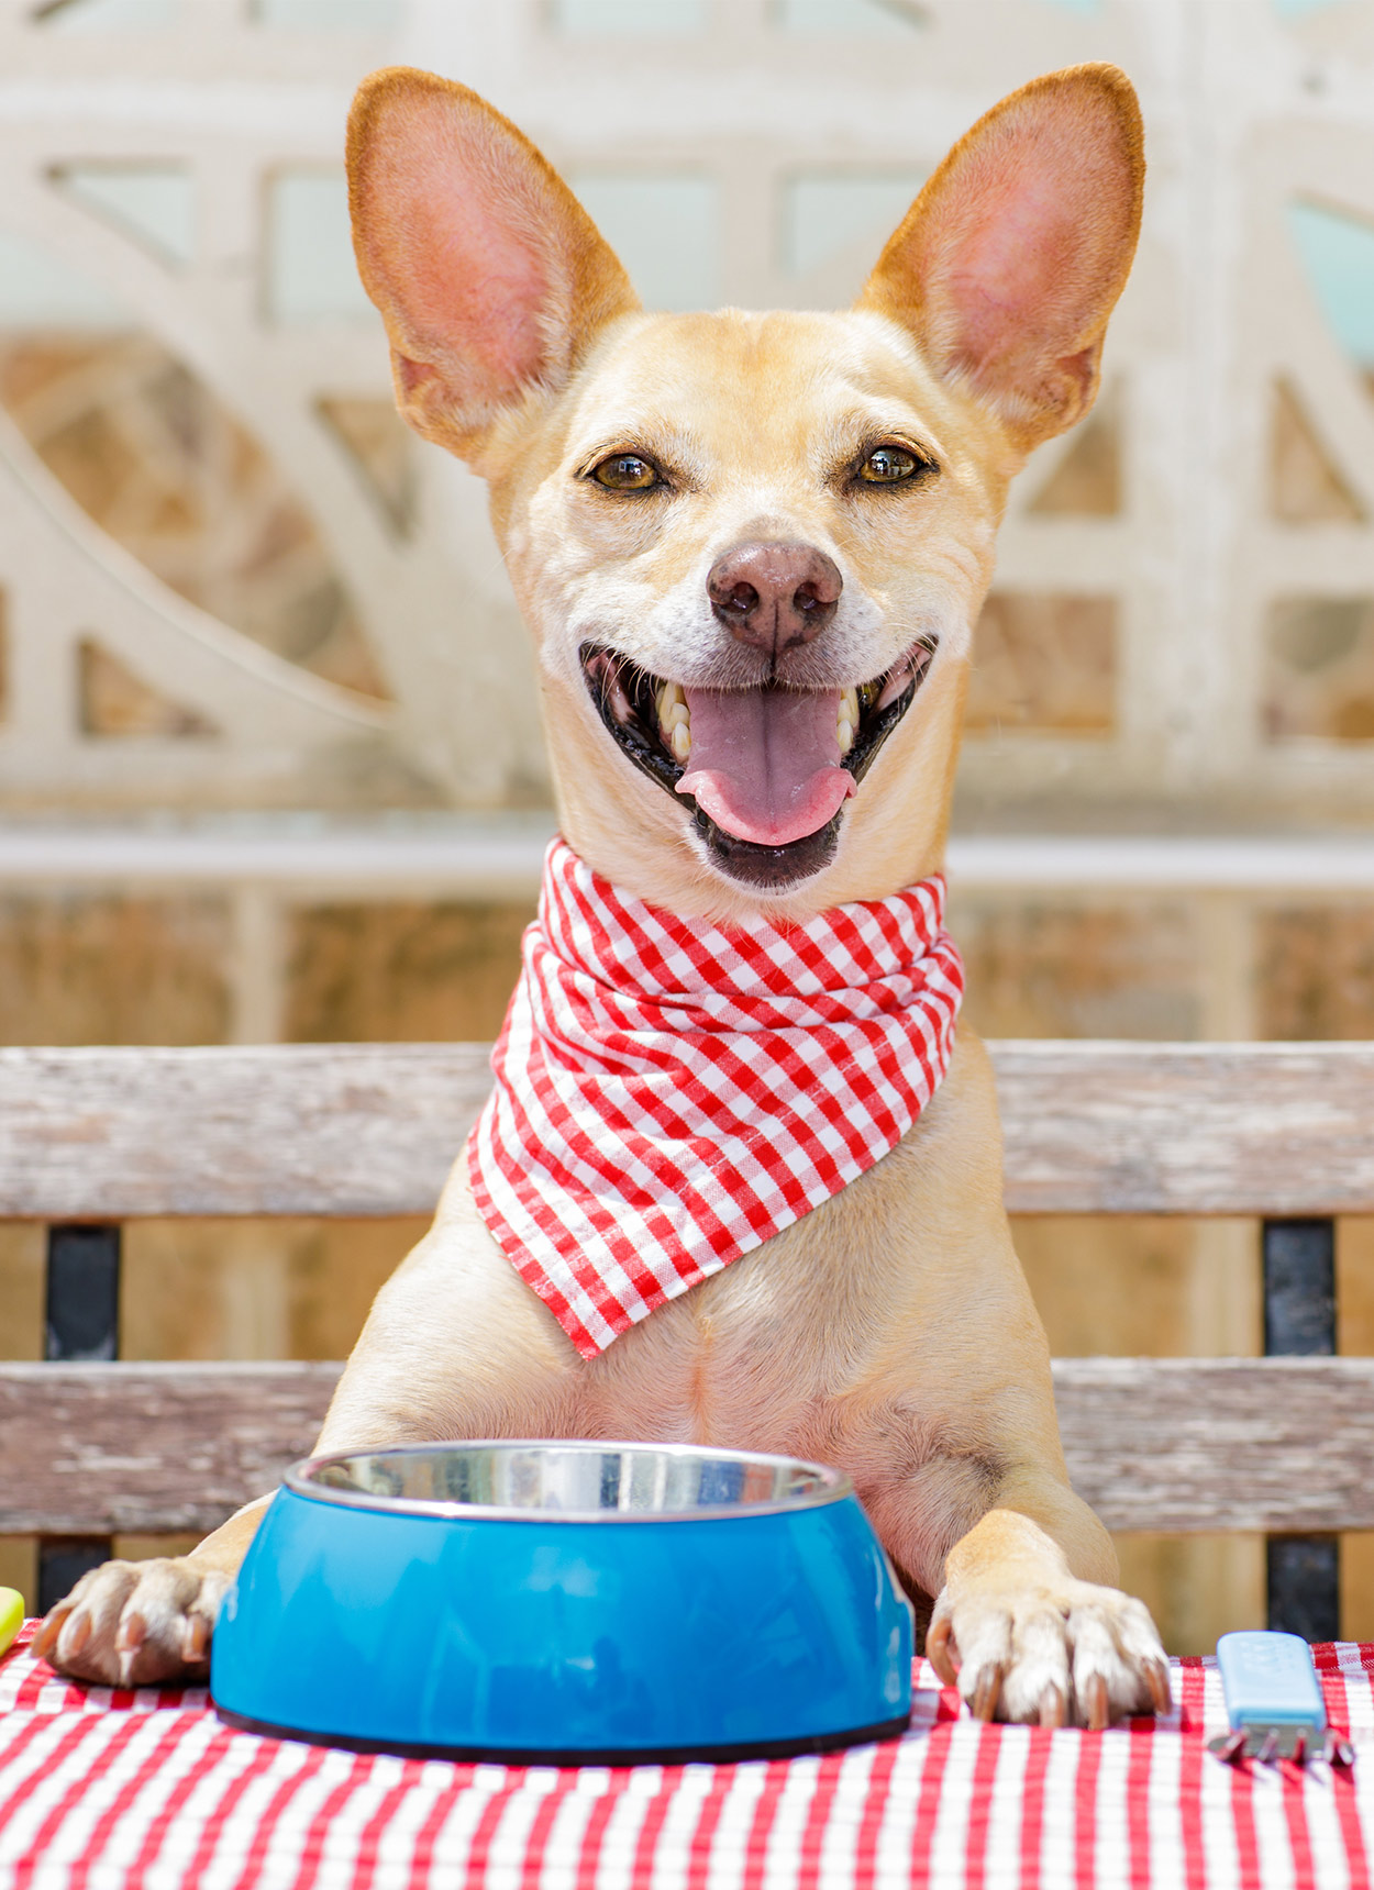
[[843, 1470], [798, 1457], [671, 1444], [412, 1444], [287, 1470], [299, 1495], [355, 1508], [527, 1521], [765, 1516], [850, 1495]]

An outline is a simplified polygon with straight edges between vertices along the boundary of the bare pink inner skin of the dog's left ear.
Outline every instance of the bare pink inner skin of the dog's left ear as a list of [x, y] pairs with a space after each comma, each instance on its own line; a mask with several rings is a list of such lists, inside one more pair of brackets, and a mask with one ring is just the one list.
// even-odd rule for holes
[[446, 100], [378, 127], [359, 261], [412, 384], [437, 372], [459, 403], [501, 403], [546, 367], [558, 284], [541, 183], [525, 151]]

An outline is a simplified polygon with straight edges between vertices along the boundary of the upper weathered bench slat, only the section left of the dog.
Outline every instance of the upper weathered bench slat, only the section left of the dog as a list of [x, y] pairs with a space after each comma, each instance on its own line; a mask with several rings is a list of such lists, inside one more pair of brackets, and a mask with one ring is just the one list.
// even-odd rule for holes
[[0, 1051], [0, 1217], [429, 1213], [486, 1043]]

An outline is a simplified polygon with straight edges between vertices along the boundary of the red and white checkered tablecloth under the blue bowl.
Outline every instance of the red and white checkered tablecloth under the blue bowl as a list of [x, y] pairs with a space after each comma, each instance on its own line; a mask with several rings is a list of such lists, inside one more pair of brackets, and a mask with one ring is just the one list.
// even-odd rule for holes
[[232, 1733], [204, 1692], [0, 1663], [9, 1890], [1128, 1890], [1370, 1884], [1374, 1646], [1317, 1648], [1357, 1763], [1230, 1769], [1211, 1663], [1109, 1733], [977, 1726], [926, 1663], [911, 1731], [745, 1765], [450, 1765]]

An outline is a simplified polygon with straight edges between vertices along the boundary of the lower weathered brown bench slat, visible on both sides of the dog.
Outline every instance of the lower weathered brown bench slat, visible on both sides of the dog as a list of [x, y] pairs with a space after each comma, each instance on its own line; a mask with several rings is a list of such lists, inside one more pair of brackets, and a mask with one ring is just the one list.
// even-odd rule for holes
[[[336, 1365], [0, 1365], [0, 1533], [212, 1529], [314, 1442]], [[1374, 1359], [1058, 1359], [1111, 1529], [1374, 1529]]]

